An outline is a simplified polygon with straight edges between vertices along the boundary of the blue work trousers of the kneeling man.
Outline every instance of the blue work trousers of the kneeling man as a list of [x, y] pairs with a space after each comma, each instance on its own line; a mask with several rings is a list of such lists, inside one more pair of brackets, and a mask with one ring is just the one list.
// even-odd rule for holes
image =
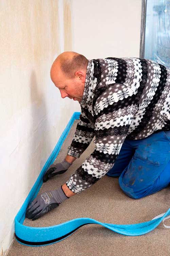
[[124, 193], [139, 199], [170, 183], [170, 131], [160, 131], [145, 139], [125, 139], [107, 176], [119, 177]]

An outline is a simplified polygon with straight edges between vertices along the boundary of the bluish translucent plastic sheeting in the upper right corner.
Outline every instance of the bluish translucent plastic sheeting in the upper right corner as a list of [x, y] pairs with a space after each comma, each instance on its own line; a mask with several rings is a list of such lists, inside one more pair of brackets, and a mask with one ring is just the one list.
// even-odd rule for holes
[[147, 1], [145, 58], [170, 68], [170, 0]]

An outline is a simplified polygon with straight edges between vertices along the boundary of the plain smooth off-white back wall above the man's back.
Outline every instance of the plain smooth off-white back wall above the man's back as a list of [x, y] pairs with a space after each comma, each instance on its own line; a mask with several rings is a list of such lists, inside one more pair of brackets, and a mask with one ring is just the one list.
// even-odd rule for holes
[[88, 59], [139, 57], [142, 0], [72, 0], [73, 51]]

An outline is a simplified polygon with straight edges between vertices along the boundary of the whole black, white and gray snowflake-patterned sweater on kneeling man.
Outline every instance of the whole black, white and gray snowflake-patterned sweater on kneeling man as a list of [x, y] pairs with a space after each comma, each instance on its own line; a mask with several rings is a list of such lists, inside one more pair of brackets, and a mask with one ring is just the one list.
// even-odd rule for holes
[[89, 60], [79, 103], [79, 123], [67, 154], [79, 158], [94, 136], [95, 148], [66, 182], [74, 193], [114, 166], [126, 138], [170, 130], [170, 69], [140, 58]]

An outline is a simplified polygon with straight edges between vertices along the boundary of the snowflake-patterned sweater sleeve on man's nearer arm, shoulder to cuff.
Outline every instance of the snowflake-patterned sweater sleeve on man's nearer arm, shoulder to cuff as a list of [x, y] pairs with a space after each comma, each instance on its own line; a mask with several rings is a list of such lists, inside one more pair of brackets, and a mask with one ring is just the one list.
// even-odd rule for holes
[[97, 98], [94, 106], [95, 150], [66, 182], [72, 192], [81, 193], [114, 166], [136, 112], [134, 96], [131, 88], [112, 84]]

